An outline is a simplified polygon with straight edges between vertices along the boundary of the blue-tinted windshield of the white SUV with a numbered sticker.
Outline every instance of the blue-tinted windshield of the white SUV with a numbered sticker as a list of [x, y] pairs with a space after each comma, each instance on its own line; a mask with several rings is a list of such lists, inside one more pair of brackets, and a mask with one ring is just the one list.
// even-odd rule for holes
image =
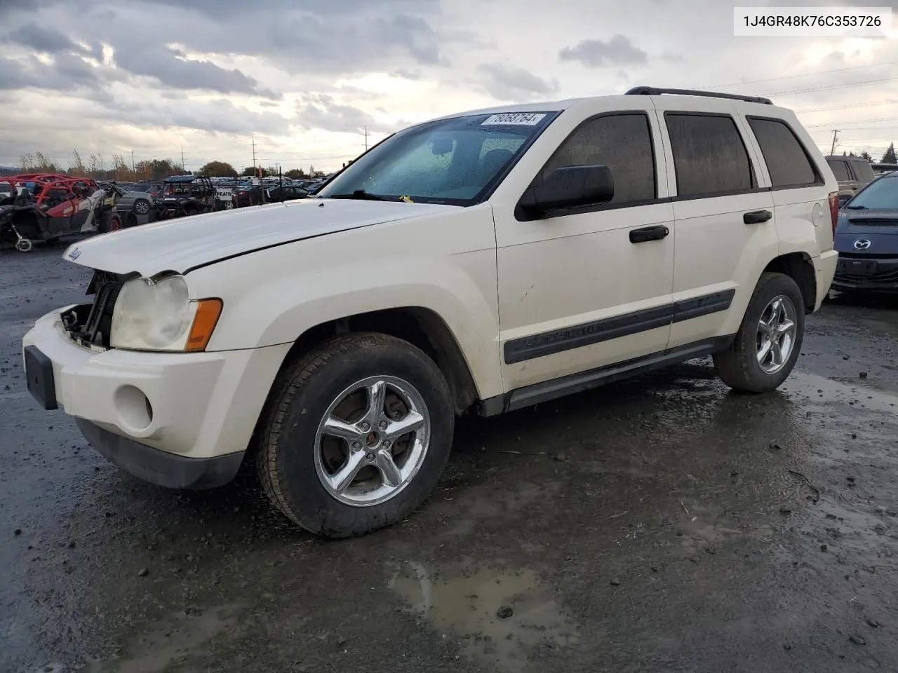
[[439, 119], [392, 135], [316, 195], [471, 205], [539, 135], [553, 113]]

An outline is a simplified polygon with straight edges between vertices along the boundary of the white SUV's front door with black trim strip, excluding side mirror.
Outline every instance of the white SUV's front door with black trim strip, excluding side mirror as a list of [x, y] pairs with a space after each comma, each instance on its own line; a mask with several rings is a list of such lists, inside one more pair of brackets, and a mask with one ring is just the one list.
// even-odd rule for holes
[[516, 219], [514, 203], [494, 204], [506, 390], [665, 350], [674, 209], [663, 159], [656, 161], [664, 156], [656, 116], [628, 107], [646, 101], [596, 101], [583, 116], [562, 116], [556, 124], [571, 127], [567, 138], [522, 178], [603, 164], [612, 171], [611, 202], [533, 221]]

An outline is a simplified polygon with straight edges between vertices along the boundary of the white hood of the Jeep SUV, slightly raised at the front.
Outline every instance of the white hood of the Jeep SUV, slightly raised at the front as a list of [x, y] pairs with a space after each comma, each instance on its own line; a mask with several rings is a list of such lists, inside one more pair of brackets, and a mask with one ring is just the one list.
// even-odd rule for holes
[[81, 240], [63, 258], [115, 274], [189, 269], [253, 250], [453, 210], [454, 205], [298, 199], [142, 224]]

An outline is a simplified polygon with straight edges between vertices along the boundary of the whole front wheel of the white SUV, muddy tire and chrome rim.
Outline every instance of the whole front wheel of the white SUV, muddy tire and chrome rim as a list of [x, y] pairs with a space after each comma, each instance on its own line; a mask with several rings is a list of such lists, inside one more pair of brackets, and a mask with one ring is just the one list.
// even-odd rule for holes
[[380, 334], [335, 337], [279, 375], [256, 468], [271, 501], [304, 529], [362, 535], [427, 499], [453, 427], [449, 386], [427, 354]]

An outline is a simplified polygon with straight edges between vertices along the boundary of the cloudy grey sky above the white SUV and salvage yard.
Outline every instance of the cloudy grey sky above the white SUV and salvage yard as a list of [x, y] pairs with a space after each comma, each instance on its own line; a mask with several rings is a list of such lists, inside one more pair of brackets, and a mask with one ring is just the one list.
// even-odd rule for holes
[[259, 164], [330, 170], [365, 126], [373, 143], [637, 84], [770, 96], [827, 152], [833, 128], [839, 153], [898, 138], [898, 40], [736, 38], [719, 0], [0, 0], [0, 16], [0, 166], [183, 148], [188, 169], [241, 168], [255, 137]]

